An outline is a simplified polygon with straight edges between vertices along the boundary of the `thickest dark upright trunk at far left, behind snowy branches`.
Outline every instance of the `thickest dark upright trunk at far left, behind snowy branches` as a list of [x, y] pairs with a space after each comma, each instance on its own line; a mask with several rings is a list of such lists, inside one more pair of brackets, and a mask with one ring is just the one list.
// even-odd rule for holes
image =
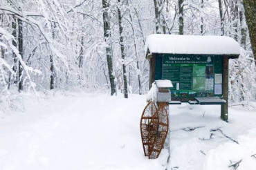
[[[18, 19], [18, 43], [19, 43], [19, 54], [21, 55], [21, 59], [23, 59], [23, 30], [22, 30], [22, 21], [20, 19]], [[22, 79], [22, 66], [21, 66], [21, 62], [19, 62], [18, 65], [18, 71], [19, 71], [19, 86], [18, 86], [18, 91], [22, 91], [23, 90], [23, 79]]]

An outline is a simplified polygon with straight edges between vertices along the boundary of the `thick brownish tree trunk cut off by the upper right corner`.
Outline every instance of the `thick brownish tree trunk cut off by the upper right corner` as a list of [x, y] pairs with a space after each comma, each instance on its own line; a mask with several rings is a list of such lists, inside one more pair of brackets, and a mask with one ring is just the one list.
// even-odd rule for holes
[[253, 50], [253, 56], [256, 65], [256, 1], [244, 0], [244, 10], [246, 14], [246, 23], [250, 35], [250, 43]]

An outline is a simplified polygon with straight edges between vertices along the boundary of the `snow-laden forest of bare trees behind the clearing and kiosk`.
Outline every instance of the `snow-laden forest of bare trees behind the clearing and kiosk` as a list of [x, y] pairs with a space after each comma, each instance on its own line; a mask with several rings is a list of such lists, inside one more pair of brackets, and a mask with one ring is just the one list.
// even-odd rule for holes
[[244, 10], [242, 0], [0, 0], [0, 105], [30, 91], [145, 94], [153, 33], [235, 39], [241, 55], [230, 60], [229, 100], [249, 104], [256, 12], [248, 1]]

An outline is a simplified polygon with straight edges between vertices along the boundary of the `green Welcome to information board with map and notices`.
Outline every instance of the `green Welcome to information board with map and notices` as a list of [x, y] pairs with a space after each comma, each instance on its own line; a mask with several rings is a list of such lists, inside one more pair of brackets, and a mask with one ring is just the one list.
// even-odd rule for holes
[[[161, 66], [160, 66], [161, 65]], [[222, 57], [218, 55], [161, 55], [156, 79], [170, 79], [172, 97], [222, 95]]]

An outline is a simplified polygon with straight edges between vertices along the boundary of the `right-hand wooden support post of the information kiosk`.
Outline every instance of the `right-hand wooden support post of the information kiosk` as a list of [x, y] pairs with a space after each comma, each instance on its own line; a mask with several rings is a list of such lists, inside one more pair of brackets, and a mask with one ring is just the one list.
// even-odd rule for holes
[[228, 56], [223, 56], [222, 94], [226, 104], [221, 105], [221, 119], [228, 122]]

